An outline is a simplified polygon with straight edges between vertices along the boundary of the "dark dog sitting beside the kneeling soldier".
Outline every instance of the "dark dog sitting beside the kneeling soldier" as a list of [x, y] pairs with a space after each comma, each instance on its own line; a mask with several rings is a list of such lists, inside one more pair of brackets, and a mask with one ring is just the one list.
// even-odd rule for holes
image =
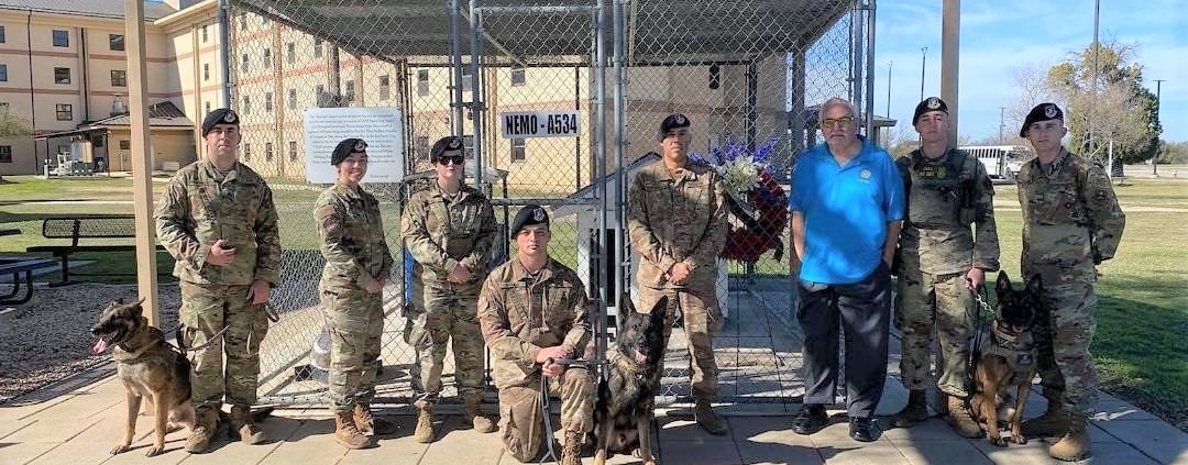
[[594, 425], [598, 438], [594, 464], [604, 465], [614, 453], [639, 450], [644, 465], [656, 465], [651, 425], [655, 418], [659, 367], [664, 361], [664, 316], [668, 297], [650, 313], [639, 313], [624, 297], [619, 335], [606, 352], [607, 376], [598, 387]]

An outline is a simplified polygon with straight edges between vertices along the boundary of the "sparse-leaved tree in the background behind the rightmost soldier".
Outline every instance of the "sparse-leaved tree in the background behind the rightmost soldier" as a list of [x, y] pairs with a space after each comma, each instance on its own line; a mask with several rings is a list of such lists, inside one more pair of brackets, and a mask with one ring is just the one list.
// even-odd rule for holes
[[1143, 65], [1129, 63], [1133, 50], [1114, 42], [1089, 45], [1051, 66], [1044, 81], [1045, 90], [1064, 103], [1069, 147], [1105, 161], [1112, 142], [1114, 166], [1150, 160], [1162, 132], [1155, 94], [1143, 87]]

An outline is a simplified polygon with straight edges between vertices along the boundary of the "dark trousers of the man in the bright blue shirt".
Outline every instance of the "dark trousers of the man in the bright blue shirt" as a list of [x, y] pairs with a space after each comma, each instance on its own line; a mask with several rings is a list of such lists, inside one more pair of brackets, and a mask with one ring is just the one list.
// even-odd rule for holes
[[[846, 397], [851, 418], [871, 418], [887, 374], [891, 276], [883, 262], [849, 285], [800, 281], [797, 319], [804, 331], [804, 403], [834, 402], [838, 331], [846, 335]], [[841, 324], [839, 326], [839, 323]]]

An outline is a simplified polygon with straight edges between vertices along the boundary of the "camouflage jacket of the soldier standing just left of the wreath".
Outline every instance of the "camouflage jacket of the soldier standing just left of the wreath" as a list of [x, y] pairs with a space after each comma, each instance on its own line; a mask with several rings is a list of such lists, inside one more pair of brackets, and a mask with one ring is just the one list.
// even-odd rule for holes
[[685, 286], [713, 286], [726, 247], [726, 199], [718, 173], [690, 161], [670, 173], [664, 161], [644, 166], [627, 190], [627, 232], [639, 251], [638, 280], [653, 288], [684, 287], [664, 275], [684, 262]]

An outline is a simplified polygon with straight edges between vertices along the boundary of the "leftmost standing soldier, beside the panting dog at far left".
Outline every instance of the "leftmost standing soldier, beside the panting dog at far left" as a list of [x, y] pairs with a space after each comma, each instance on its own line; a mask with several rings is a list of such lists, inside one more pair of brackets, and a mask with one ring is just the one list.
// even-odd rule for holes
[[[194, 371], [195, 428], [189, 452], [204, 452], [219, 422], [223, 396], [230, 433], [265, 441], [251, 406], [260, 372], [260, 342], [268, 331], [268, 292], [280, 279], [280, 238], [272, 190], [239, 163], [239, 116], [220, 108], [202, 121], [207, 153], [165, 186], [157, 205], [157, 237], [177, 261], [184, 346], [222, 340], [189, 352]], [[227, 356], [226, 372], [223, 355]]]

